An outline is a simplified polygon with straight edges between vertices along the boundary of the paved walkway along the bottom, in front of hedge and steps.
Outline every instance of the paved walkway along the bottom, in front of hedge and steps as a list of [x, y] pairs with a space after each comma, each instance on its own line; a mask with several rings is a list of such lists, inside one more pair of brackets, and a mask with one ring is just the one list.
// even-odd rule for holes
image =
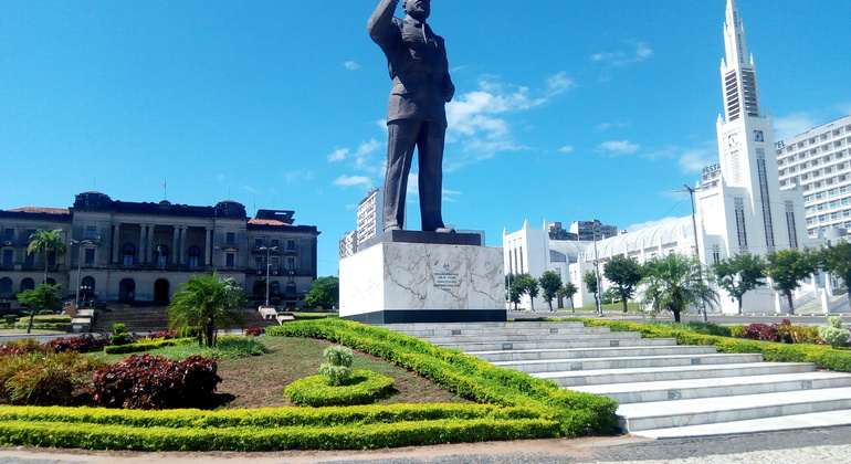
[[0, 464], [71, 463], [334, 463], [334, 464], [503, 464], [503, 463], [849, 463], [851, 428], [644, 440], [630, 436], [530, 440], [377, 451], [290, 451], [275, 453], [140, 453], [0, 447]]

